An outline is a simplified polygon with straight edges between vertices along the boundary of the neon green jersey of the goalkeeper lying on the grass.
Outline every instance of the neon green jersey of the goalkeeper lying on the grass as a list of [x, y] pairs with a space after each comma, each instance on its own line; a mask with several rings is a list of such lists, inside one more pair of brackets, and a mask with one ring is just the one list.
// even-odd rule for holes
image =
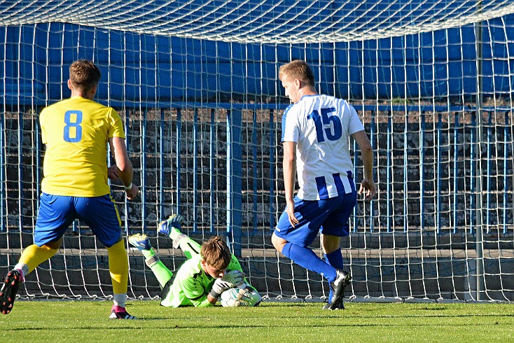
[[[216, 279], [204, 272], [200, 260], [202, 260], [200, 255], [193, 255], [181, 265], [175, 274], [172, 286], [160, 302], [162, 306], [212, 306], [207, 300], [207, 294], [209, 294]], [[227, 270], [243, 271], [235, 255], [232, 255]]]

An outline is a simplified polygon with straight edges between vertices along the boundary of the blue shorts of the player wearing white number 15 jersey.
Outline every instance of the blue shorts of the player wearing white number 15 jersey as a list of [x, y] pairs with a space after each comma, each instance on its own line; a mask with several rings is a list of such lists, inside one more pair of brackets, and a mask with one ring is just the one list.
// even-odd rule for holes
[[348, 219], [357, 202], [357, 193], [347, 193], [325, 200], [301, 200], [294, 198], [298, 223], [294, 228], [284, 213], [275, 227], [275, 235], [298, 244], [309, 246], [318, 232], [324, 235], [344, 237], [349, 235]]

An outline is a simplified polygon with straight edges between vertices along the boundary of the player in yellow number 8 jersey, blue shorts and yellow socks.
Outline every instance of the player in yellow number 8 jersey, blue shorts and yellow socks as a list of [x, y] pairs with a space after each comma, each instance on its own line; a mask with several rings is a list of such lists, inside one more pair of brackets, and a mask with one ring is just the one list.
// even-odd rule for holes
[[[98, 67], [88, 60], [72, 63], [68, 80], [71, 97], [41, 111], [46, 153], [34, 244], [25, 248], [0, 289], [3, 314], [13, 309], [16, 293], [27, 274], [57, 253], [64, 232], [78, 218], [88, 224], [109, 253], [114, 293], [109, 318], [136, 318], [125, 310], [128, 256], [108, 178], [123, 182], [128, 200], [137, 197], [139, 189], [132, 183], [132, 163], [120, 116], [114, 109], [93, 101], [100, 76]], [[109, 169], [107, 144], [116, 160]]]

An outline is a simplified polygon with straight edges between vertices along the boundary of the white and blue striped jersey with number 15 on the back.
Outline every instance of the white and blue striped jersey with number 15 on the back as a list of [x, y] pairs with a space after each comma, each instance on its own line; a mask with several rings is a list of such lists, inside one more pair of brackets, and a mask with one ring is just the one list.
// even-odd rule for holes
[[282, 142], [296, 142], [298, 198], [323, 200], [355, 191], [349, 136], [364, 130], [343, 99], [304, 95], [282, 117]]

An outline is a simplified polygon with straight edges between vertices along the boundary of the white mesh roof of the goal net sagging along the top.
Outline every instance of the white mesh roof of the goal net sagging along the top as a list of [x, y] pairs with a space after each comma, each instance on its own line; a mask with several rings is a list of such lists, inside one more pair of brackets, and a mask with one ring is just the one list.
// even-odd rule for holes
[[69, 22], [238, 43], [363, 41], [461, 27], [514, 13], [509, 0], [3, 1], [2, 25]]

